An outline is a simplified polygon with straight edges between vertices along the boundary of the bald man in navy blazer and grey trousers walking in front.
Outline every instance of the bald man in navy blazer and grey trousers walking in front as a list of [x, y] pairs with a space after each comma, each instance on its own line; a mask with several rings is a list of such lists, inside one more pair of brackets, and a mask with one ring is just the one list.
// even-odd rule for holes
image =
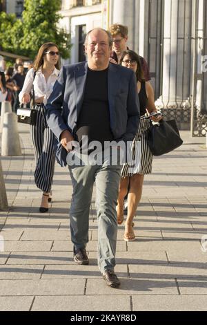
[[[90, 30], [86, 35], [85, 51], [86, 62], [63, 66], [46, 105], [48, 126], [59, 140], [57, 158], [61, 165], [69, 162], [70, 155], [76, 155], [74, 141], [80, 145], [82, 156], [87, 158], [95, 150], [92, 143], [100, 145], [100, 154], [110, 142], [131, 141], [139, 125], [135, 74], [109, 62], [110, 33], [101, 28]], [[84, 137], [88, 139], [88, 150], [83, 146]], [[113, 151], [115, 149], [119, 151], [118, 145], [114, 145]], [[74, 160], [73, 164], [71, 160], [68, 163], [73, 186], [70, 231], [74, 261], [87, 265], [89, 211], [96, 183], [98, 266], [106, 284], [117, 288], [120, 281], [114, 272], [116, 203], [121, 163], [113, 164], [111, 155], [103, 154], [101, 163], [92, 165], [78, 164]]]

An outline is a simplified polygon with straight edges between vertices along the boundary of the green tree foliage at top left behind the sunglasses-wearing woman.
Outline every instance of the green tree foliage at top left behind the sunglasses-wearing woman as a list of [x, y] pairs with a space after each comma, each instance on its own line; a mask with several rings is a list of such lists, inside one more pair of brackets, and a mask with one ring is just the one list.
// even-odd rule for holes
[[52, 41], [61, 57], [70, 56], [70, 35], [57, 27], [61, 18], [57, 12], [61, 0], [25, 0], [22, 20], [14, 14], [0, 14], [0, 44], [2, 50], [34, 59], [39, 47]]

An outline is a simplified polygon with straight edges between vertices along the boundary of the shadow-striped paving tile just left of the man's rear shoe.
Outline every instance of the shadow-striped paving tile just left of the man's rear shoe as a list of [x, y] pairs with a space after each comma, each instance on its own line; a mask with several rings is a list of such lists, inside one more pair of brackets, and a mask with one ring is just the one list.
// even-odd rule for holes
[[[4, 262], [5, 263], [5, 262]], [[74, 264], [72, 252], [12, 252], [7, 265]]]

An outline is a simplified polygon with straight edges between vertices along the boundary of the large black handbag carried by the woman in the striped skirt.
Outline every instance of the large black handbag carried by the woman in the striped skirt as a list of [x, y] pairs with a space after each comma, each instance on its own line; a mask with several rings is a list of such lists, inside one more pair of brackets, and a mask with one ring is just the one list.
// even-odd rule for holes
[[183, 143], [175, 120], [160, 120], [159, 124], [151, 123], [146, 136], [148, 146], [154, 156], [167, 154]]

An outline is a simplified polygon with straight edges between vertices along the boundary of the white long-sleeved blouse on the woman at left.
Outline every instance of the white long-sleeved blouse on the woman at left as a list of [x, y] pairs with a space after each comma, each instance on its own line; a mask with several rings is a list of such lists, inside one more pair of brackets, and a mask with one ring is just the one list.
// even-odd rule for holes
[[37, 71], [34, 82], [34, 69], [31, 68], [26, 74], [26, 78], [23, 83], [23, 88], [19, 93], [19, 102], [21, 102], [23, 94], [30, 93], [32, 90], [32, 83], [34, 84], [34, 100], [37, 100], [39, 97], [43, 97], [43, 103], [46, 104], [50, 93], [52, 93], [52, 87], [54, 86], [57, 76], [59, 75], [59, 70], [55, 68], [51, 73], [50, 77], [48, 77], [48, 81], [46, 82], [46, 77], [41, 72], [41, 67]]

